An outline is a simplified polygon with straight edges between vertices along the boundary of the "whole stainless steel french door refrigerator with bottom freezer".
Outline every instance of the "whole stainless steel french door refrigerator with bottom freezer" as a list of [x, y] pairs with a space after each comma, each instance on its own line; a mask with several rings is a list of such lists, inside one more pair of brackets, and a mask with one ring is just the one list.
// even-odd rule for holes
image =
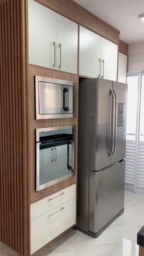
[[106, 79], [79, 85], [77, 229], [95, 238], [124, 211], [126, 95]]

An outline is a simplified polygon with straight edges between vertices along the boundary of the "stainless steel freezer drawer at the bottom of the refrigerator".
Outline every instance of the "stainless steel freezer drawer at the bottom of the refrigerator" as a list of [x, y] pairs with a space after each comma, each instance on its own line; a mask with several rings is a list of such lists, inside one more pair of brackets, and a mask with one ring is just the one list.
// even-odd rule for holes
[[99, 232], [124, 208], [124, 161], [89, 174], [88, 230]]

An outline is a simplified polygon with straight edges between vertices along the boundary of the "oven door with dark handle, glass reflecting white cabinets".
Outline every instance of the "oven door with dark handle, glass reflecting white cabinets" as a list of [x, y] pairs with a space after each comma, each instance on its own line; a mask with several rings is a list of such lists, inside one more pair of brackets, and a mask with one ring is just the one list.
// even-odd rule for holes
[[74, 141], [37, 143], [36, 191], [74, 175]]

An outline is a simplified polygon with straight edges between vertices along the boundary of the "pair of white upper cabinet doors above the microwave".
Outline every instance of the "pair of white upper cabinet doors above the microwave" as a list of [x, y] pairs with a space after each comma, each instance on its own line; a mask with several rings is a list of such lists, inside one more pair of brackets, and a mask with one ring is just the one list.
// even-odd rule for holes
[[77, 73], [78, 24], [29, 0], [29, 64]]

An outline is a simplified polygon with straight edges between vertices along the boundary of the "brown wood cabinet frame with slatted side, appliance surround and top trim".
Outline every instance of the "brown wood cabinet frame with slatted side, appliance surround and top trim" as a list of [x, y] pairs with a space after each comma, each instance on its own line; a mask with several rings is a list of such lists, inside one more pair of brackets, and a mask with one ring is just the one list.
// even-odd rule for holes
[[[120, 32], [73, 0], [39, 0], [93, 32], [119, 43]], [[0, 240], [30, 255], [30, 205], [77, 183], [79, 75], [28, 64], [27, 0], [0, 0]], [[79, 64], [79, 59], [77, 60]], [[34, 76], [77, 83], [76, 117], [35, 120]], [[35, 128], [76, 126], [76, 176], [35, 192]]]

